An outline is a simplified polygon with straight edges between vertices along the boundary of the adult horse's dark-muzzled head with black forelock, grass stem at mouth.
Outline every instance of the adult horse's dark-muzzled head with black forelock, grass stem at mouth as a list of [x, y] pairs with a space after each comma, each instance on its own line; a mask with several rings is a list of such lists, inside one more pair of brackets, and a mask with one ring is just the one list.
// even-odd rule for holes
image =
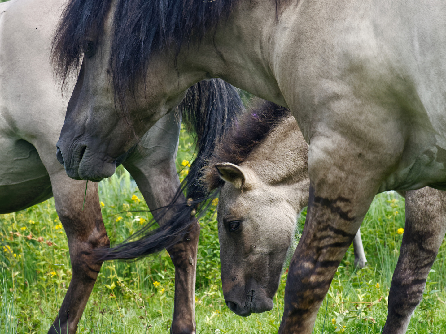
[[183, 75], [190, 66], [180, 47], [193, 31], [199, 38], [214, 28], [232, 1], [185, 3], [68, 2], [52, 60], [62, 82], [79, 71], [58, 142], [58, 160], [70, 177], [98, 181], [113, 174], [116, 160], [176, 108], [190, 86], [215, 77], [203, 69]]

